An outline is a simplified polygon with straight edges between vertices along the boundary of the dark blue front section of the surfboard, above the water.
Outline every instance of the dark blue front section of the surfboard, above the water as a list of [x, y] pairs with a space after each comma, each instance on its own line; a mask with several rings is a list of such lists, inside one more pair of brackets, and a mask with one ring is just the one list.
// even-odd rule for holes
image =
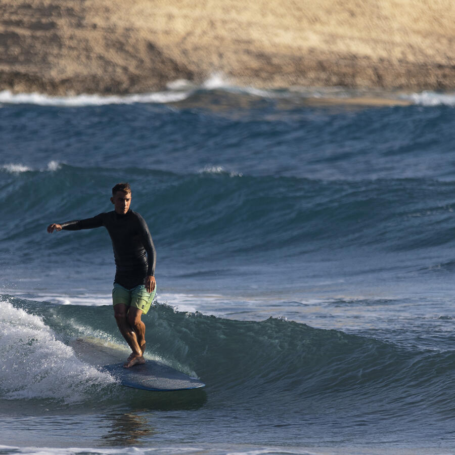
[[102, 370], [108, 372], [120, 384], [135, 389], [168, 392], [205, 386], [199, 379], [192, 378], [156, 360], [147, 360], [143, 365], [134, 365], [130, 368], [123, 368], [123, 363], [105, 365]]

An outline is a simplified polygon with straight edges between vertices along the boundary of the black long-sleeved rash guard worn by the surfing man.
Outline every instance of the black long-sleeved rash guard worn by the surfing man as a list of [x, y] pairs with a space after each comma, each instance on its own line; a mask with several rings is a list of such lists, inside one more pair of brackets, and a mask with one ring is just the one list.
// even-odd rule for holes
[[126, 289], [144, 284], [147, 275], [155, 275], [156, 251], [144, 218], [132, 210], [124, 215], [115, 211], [100, 213], [93, 218], [60, 224], [66, 231], [104, 226], [111, 236], [115, 259], [115, 279]]

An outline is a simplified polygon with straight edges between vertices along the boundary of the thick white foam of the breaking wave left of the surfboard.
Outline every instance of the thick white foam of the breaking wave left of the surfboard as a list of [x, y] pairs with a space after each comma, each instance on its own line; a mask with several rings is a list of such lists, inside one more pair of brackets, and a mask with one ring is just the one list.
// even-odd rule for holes
[[4, 399], [51, 398], [74, 403], [85, 399], [93, 386], [113, 382], [107, 373], [81, 362], [41, 317], [14, 307], [8, 299], [0, 305], [0, 348]]

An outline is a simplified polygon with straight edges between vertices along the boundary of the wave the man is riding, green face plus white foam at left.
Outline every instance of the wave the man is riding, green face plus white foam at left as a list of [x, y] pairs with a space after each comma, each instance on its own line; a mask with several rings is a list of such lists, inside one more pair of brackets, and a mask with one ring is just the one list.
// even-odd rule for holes
[[[421, 414], [422, 423], [429, 414], [448, 411], [453, 352], [404, 349], [272, 318], [226, 320], [161, 304], [152, 307], [146, 322], [148, 356], [197, 374], [207, 383], [206, 406], [215, 412], [227, 406], [241, 414], [248, 407], [258, 419], [273, 413], [289, 425], [296, 415], [319, 419], [330, 412], [333, 418], [349, 417], [354, 426], [352, 419], [392, 426], [391, 420], [406, 425], [417, 418], [408, 415], [408, 406]], [[87, 335], [125, 344], [109, 306], [4, 296], [0, 323], [0, 346], [9, 352], [0, 385], [3, 400], [89, 405], [95, 396], [101, 406], [112, 402], [113, 378], [77, 358], [69, 346]]]

